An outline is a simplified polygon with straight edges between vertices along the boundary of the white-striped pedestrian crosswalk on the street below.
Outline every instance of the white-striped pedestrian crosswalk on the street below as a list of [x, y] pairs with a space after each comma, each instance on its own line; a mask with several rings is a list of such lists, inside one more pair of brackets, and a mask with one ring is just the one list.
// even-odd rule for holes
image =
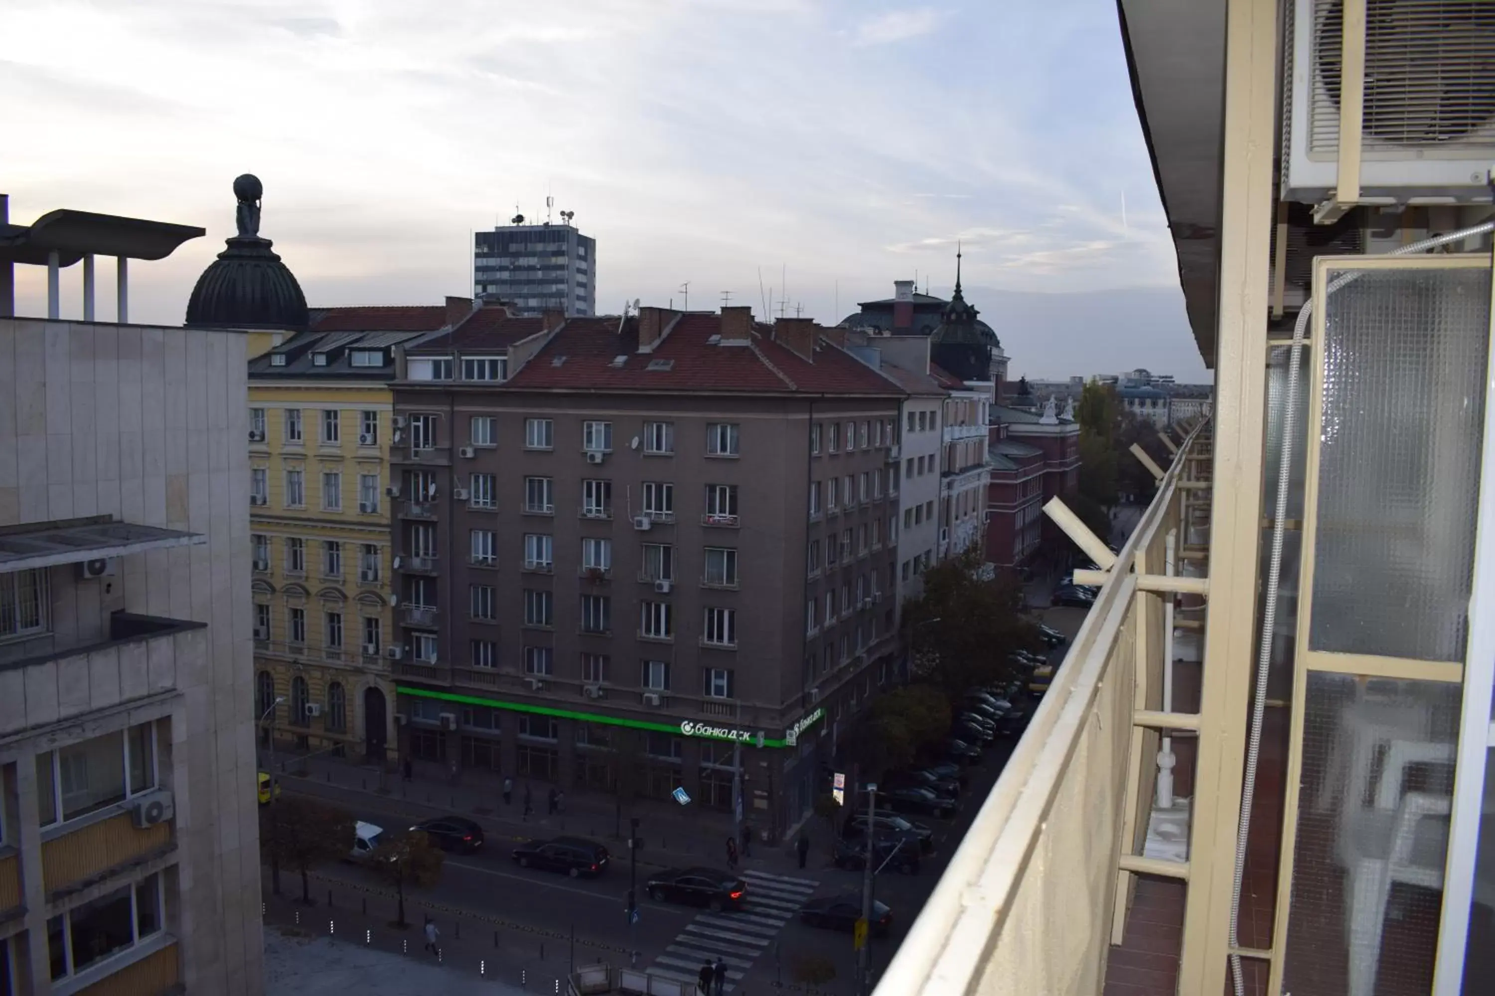
[[774, 935], [800, 912], [800, 906], [819, 885], [813, 878], [788, 878], [767, 872], [745, 871], [748, 894], [740, 911], [703, 912], [685, 926], [664, 954], [649, 968], [685, 983], [695, 983], [703, 962], [721, 959], [727, 965], [727, 987], [733, 992], [759, 954], [768, 950]]

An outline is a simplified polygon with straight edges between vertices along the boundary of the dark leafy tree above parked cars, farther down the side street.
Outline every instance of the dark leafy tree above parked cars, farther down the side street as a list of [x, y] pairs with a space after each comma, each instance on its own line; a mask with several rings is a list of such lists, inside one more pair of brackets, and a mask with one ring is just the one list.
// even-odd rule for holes
[[915, 679], [951, 700], [972, 685], [1009, 681], [1008, 651], [1036, 644], [1021, 608], [1023, 585], [985, 570], [976, 548], [925, 570], [924, 594], [903, 608]]

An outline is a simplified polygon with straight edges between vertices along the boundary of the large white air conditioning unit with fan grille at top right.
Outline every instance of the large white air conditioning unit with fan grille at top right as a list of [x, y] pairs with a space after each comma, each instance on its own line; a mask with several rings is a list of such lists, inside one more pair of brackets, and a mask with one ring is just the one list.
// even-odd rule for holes
[[[1495, 160], [1485, 3], [1368, 0], [1359, 197], [1340, 191], [1343, 0], [1293, 0], [1284, 85], [1283, 199], [1320, 203], [1489, 203]], [[1353, 82], [1350, 84], [1353, 85]], [[1332, 217], [1329, 217], [1332, 221]]]

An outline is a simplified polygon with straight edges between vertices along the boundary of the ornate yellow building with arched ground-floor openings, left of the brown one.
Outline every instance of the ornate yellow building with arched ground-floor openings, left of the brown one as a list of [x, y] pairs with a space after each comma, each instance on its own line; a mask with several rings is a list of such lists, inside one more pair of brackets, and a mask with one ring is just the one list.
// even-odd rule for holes
[[254, 702], [262, 742], [395, 754], [387, 647], [396, 346], [471, 311], [312, 309], [299, 333], [250, 333]]

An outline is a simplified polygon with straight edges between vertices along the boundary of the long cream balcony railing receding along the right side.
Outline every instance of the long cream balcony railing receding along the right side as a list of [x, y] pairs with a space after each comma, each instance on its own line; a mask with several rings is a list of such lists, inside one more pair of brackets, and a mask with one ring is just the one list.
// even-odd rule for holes
[[[1121, 851], [1139, 850], [1154, 790], [1156, 733], [1133, 732], [1139, 709], [1162, 708], [1163, 608], [1139, 590], [1138, 561], [1162, 573], [1199, 441], [1196, 430], [1159, 482], [878, 996], [1102, 992]], [[1147, 862], [1178, 875], [1162, 859], [1127, 865]]]

